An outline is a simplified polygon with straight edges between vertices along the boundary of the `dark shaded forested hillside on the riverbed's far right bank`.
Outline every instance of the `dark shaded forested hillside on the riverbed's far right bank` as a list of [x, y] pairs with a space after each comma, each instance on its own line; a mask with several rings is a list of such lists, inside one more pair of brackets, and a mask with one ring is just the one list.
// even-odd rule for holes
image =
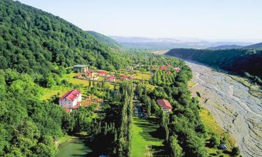
[[166, 55], [198, 61], [238, 75], [245, 75], [262, 84], [262, 50], [173, 49], [167, 52]]

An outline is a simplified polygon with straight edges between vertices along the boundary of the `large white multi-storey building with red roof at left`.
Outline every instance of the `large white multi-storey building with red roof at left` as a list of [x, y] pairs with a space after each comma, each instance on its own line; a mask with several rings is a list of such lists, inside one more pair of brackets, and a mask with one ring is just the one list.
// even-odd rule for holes
[[59, 98], [59, 105], [67, 109], [78, 108], [80, 107], [81, 100], [81, 91], [74, 89], [73, 91], [68, 91], [64, 96]]

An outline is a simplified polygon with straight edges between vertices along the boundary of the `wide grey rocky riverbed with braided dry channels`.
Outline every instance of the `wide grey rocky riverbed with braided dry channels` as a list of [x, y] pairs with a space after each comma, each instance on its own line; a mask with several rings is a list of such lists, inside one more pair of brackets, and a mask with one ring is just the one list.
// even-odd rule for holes
[[201, 95], [203, 107], [212, 112], [217, 124], [228, 131], [243, 156], [262, 156], [262, 99], [249, 94], [249, 89], [226, 73], [187, 61], [194, 73], [196, 86], [192, 94]]

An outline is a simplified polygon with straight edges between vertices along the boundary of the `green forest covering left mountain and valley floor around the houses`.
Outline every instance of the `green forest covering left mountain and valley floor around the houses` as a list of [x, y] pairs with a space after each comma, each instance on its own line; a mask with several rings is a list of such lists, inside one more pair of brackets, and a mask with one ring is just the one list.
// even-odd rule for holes
[[[159, 124], [156, 135], [166, 147], [159, 156], [207, 156], [205, 142], [219, 146], [220, 139], [209, 139], [201, 122], [201, 107], [187, 88], [191, 69], [184, 61], [119, 50], [106, 38], [17, 1], [1, 0], [0, 8], [0, 156], [55, 156], [65, 135], [83, 136], [93, 156], [131, 156], [135, 94], [145, 104], [147, 119]], [[75, 63], [108, 71], [136, 66], [152, 79], [113, 83], [112, 89], [104, 81], [68, 83], [64, 75]], [[180, 72], [159, 70], [168, 64]], [[68, 113], [57, 105], [59, 94], [41, 99], [44, 89], [52, 87], [81, 88], [103, 99], [103, 105]], [[169, 100], [173, 111], [164, 113], [159, 98]]]

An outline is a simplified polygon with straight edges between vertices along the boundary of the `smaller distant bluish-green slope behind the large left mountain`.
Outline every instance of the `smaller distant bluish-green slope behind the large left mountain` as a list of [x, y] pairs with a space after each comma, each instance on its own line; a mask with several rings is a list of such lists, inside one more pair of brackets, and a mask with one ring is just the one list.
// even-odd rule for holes
[[96, 38], [97, 40], [100, 40], [101, 42], [103, 42], [105, 45], [108, 45], [109, 47], [116, 48], [116, 49], [119, 49], [122, 47], [119, 43], [117, 43], [116, 40], [108, 36], [105, 36], [101, 33], [97, 33], [96, 31], [87, 31], [87, 32], [90, 33], [92, 36], [94, 36], [94, 38]]

